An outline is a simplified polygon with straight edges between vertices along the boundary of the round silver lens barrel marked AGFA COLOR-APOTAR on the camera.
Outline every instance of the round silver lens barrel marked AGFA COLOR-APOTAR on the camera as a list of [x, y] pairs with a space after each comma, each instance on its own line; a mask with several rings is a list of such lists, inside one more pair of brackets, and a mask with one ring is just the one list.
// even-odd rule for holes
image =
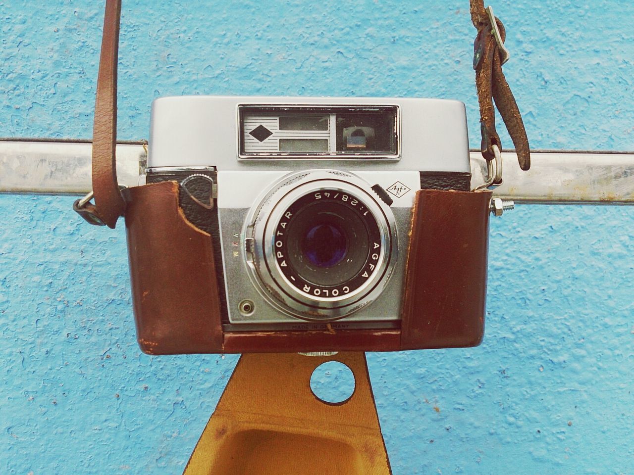
[[252, 208], [243, 236], [256, 288], [309, 320], [339, 319], [374, 300], [398, 251], [389, 206], [339, 170], [287, 175]]

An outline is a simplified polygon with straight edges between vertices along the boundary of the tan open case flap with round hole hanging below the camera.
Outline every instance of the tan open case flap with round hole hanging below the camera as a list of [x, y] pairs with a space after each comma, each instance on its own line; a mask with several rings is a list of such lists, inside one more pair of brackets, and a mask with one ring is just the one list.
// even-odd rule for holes
[[[354, 393], [325, 403], [310, 387], [328, 361]], [[390, 475], [365, 353], [242, 355], [184, 475]]]

